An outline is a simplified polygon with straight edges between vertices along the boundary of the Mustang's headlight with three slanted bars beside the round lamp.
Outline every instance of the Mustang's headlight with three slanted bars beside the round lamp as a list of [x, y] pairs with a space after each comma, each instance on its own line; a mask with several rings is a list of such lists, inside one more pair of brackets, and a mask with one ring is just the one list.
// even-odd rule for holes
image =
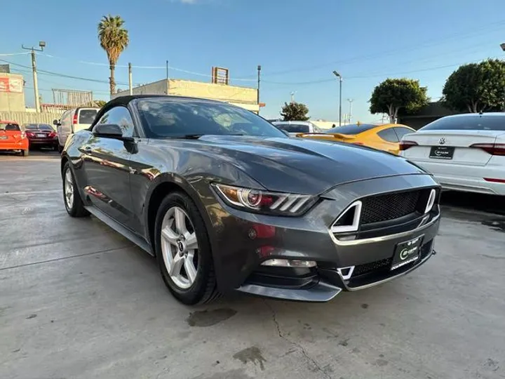
[[272, 215], [301, 215], [313, 206], [317, 198], [305, 194], [285, 194], [265, 192], [261, 189], [234, 187], [213, 184], [217, 194], [230, 206], [244, 211], [267, 213]]

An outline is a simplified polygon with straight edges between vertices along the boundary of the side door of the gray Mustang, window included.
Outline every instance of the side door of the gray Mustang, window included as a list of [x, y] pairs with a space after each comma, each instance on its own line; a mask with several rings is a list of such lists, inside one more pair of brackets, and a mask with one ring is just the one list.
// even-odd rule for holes
[[[135, 137], [137, 134], [130, 111], [123, 106], [109, 109], [97, 124], [119, 125], [123, 129], [123, 137]], [[130, 156], [134, 145], [135, 142], [90, 134], [88, 141], [79, 147], [87, 178], [84, 191], [96, 208], [126, 227], [131, 227], [133, 218]]]

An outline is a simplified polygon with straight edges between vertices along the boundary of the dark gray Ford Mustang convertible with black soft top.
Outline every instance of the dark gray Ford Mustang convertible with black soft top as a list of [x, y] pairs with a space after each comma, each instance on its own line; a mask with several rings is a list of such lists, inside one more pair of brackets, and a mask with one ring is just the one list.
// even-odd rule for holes
[[69, 215], [95, 215], [156, 256], [185, 304], [242, 291], [328, 301], [433, 254], [440, 187], [374, 149], [288, 138], [223, 102], [133, 95], [72, 135]]

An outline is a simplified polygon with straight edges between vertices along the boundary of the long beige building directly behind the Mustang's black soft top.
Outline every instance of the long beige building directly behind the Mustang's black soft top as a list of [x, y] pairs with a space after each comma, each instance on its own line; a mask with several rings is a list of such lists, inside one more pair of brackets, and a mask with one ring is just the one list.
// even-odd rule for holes
[[[121, 91], [112, 98], [128, 95], [129, 91]], [[154, 83], [133, 88], [134, 95], [177, 95], [191, 98], [206, 98], [220, 100], [243, 107], [255, 113], [260, 110], [257, 103], [257, 89], [250, 87], [229, 86], [227, 84], [204, 83], [182, 79], [163, 79]]]

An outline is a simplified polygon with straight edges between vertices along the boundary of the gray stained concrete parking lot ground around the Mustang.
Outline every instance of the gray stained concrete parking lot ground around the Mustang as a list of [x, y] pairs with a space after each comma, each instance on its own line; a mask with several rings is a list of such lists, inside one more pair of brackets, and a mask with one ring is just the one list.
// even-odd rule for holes
[[444, 206], [426, 265], [331, 302], [186, 307], [59, 167], [0, 157], [0, 378], [505, 378], [503, 216]]

